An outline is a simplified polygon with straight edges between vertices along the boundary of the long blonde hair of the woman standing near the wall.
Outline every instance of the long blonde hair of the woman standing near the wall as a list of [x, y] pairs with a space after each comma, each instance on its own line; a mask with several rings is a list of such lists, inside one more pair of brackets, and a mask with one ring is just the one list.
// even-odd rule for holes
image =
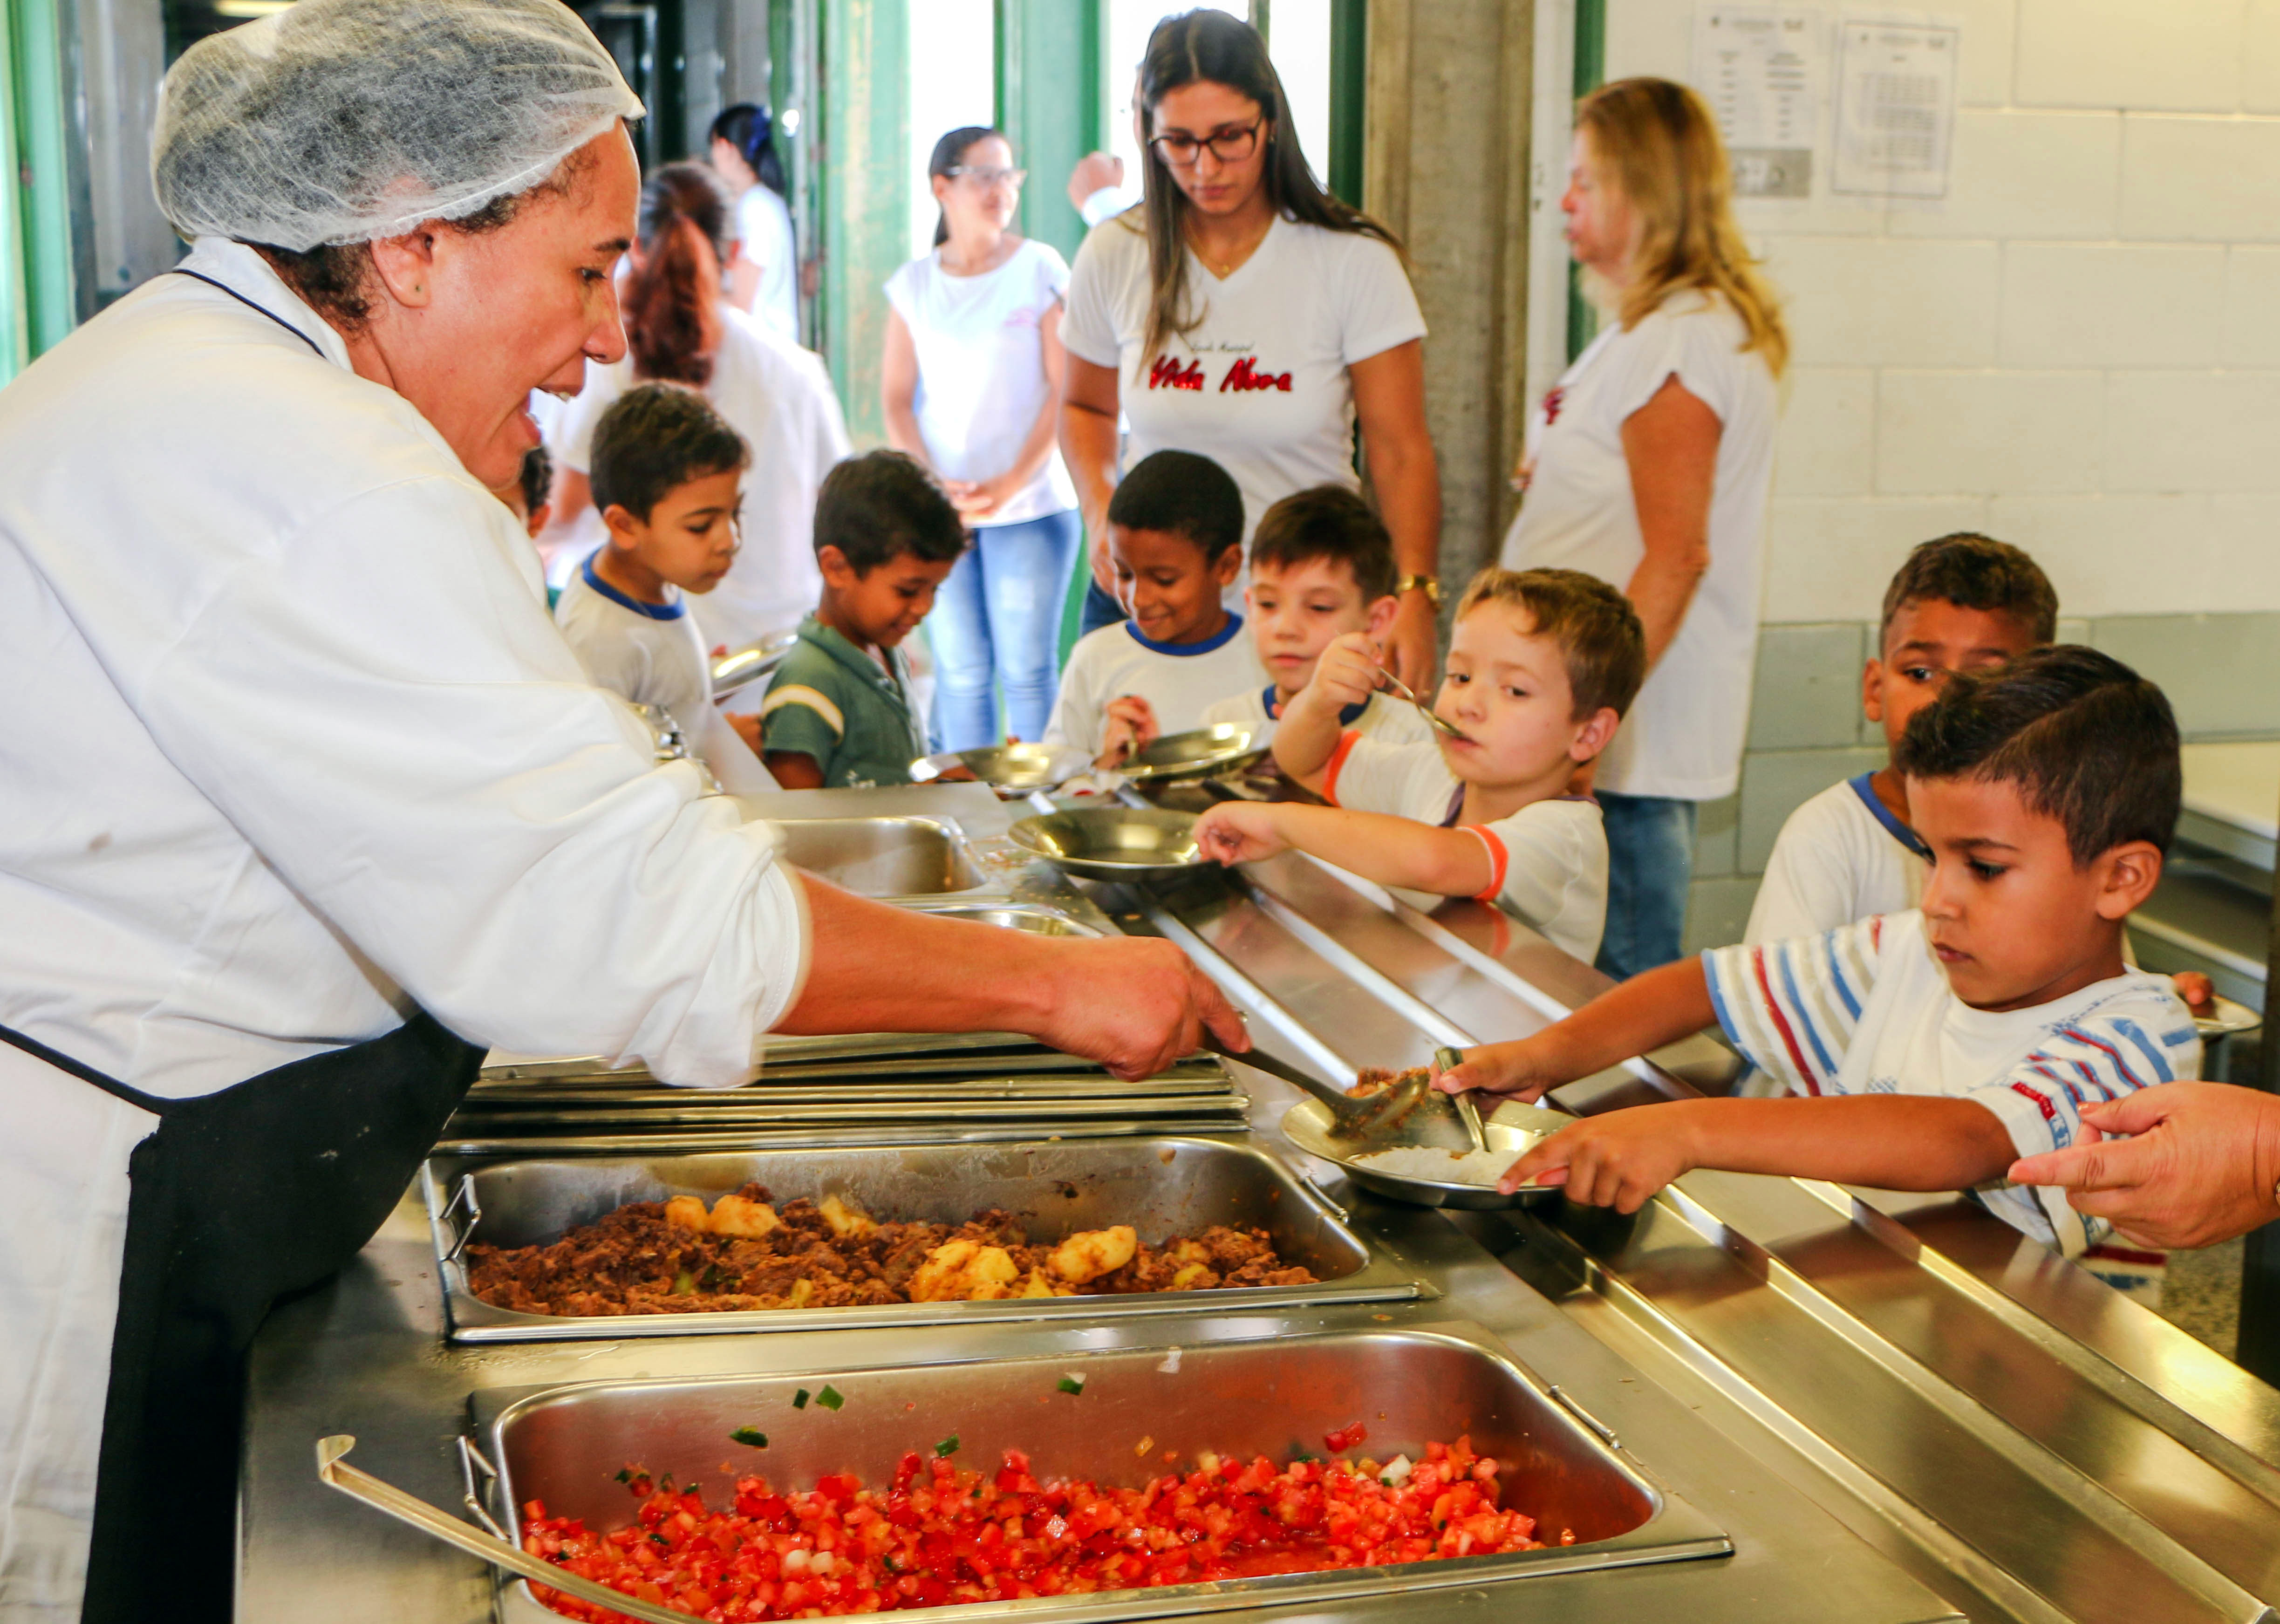
[[1637, 219], [1630, 285], [1617, 308], [1623, 326], [1685, 287], [1719, 294], [1749, 331], [1742, 349], [1760, 351], [1778, 379], [1790, 331], [1733, 219], [1733, 171], [1703, 98], [1671, 80], [1614, 80], [1575, 103], [1575, 128], [1591, 135], [1601, 180]]

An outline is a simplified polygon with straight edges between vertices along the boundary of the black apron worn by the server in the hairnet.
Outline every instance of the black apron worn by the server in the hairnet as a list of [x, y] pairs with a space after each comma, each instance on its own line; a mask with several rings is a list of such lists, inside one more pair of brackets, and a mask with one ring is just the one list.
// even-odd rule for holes
[[[128, 1159], [128, 1239], [82, 1624], [228, 1624], [246, 1353], [269, 1305], [385, 1223], [483, 1051], [413, 1017], [196, 1099], [0, 1040], [160, 1118]], [[315, 1494], [315, 1483], [310, 1485]]]

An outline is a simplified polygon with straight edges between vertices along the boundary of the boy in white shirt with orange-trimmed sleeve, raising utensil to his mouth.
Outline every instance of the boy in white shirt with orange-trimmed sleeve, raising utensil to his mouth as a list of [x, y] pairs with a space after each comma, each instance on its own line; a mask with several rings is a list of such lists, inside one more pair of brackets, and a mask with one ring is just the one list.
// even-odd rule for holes
[[1379, 885], [1473, 896], [1589, 963], [1607, 917], [1607, 835], [1569, 782], [1607, 748], [1646, 677], [1630, 600], [1578, 570], [1473, 577], [1434, 700], [1461, 741], [1386, 744], [1341, 728], [1341, 707], [1377, 675], [1377, 645], [1341, 636], [1275, 734], [1277, 764], [1329, 805], [1215, 805], [1195, 826], [1202, 853], [1252, 862], [1297, 848]]

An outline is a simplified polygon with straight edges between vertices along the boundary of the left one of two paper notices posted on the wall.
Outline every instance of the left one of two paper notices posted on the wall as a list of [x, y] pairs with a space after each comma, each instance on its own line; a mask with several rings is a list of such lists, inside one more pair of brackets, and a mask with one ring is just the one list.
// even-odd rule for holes
[[1829, 16], [1783, 7], [1694, 11], [1694, 89], [1710, 103], [1735, 196], [1813, 196]]

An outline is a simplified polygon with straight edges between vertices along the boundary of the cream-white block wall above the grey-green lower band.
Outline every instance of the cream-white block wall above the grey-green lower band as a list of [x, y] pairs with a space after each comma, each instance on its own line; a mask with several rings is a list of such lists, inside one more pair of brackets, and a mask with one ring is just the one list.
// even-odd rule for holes
[[[1742, 205], [1794, 335], [1767, 620], [1865, 618], [1965, 527], [2070, 616], [2280, 609], [2280, 0], [1931, 9], [1949, 196]], [[1607, 75], [1687, 78], [1692, 23], [1614, 0]]]

